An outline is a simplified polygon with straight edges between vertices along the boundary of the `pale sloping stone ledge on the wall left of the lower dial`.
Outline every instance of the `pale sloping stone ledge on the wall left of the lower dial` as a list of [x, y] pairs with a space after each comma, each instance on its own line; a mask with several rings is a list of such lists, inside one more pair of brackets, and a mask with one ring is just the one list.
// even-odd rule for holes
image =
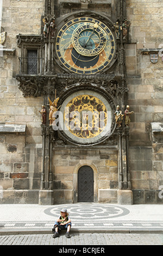
[[0, 133], [25, 133], [26, 125], [0, 124]]

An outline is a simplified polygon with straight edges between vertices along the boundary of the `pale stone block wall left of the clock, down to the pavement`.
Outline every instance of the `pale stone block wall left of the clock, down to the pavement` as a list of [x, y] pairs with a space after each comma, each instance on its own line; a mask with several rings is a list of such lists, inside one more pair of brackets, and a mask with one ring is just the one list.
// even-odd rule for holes
[[[17, 34], [40, 34], [44, 0], [3, 0], [2, 23], [7, 40], [0, 55], [0, 123], [25, 125], [26, 131], [0, 133], [0, 186], [2, 203], [38, 203], [41, 182], [43, 98], [22, 96], [15, 75], [20, 56]], [[6, 51], [7, 49], [7, 51]], [[16, 50], [15, 50], [16, 49]]]

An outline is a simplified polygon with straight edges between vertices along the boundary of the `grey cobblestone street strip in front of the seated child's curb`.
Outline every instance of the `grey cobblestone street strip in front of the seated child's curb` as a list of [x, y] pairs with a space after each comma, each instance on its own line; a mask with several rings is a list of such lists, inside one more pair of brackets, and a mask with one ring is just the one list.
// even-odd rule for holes
[[[49, 234], [39, 235], [2, 235], [0, 245], [163, 245], [162, 234], [106, 234], [106, 233], [80, 233], [71, 234], [67, 239], [65, 234], [53, 238]], [[66, 248], [66, 247], [65, 247]], [[69, 248], [69, 247], [68, 247]]]

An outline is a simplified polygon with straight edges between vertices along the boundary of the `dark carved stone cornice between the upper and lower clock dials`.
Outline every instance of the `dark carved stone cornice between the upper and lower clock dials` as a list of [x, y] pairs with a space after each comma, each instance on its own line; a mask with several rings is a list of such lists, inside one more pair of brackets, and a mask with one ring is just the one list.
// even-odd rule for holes
[[[63, 79], [64, 78], [64, 79]], [[117, 93], [127, 92], [127, 88], [121, 88], [120, 77], [114, 75], [101, 76], [77, 76], [58, 74], [55, 76], [35, 76], [35, 75], [16, 75], [18, 88], [22, 91], [23, 96], [41, 96], [43, 94], [54, 94], [57, 89], [61, 95], [69, 88], [79, 86], [93, 86], [103, 88], [107, 93], [116, 97]]]

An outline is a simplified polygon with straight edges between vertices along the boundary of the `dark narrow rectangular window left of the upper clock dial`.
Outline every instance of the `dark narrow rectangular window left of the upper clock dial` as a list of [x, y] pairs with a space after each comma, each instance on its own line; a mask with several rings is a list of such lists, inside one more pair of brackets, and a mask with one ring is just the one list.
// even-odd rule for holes
[[27, 50], [27, 74], [37, 74], [37, 50]]

